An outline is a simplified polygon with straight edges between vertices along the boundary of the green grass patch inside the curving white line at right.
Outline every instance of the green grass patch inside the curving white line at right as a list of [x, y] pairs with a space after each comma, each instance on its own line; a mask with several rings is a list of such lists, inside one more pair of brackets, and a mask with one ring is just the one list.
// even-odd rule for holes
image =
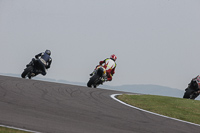
[[200, 124], [200, 101], [154, 96], [154, 95], [119, 95], [125, 103], [154, 113]]

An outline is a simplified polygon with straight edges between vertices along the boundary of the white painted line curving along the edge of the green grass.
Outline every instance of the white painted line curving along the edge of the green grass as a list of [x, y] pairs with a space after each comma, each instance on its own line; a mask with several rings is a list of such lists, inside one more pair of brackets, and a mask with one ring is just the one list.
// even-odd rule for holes
[[110, 95], [110, 97], [113, 98], [114, 100], [116, 100], [116, 101], [118, 101], [118, 102], [120, 102], [120, 103], [126, 105], [126, 106], [129, 106], [129, 107], [131, 107], [131, 108], [134, 108], [134, 109], [137, 109], [137, 110], [140, 110], [140, 111], [143, 111], [143, 112], [147, 112], [147, 113], [150, 113], [150, 114], [153, 114], [153, 115], [157, 115], [157, 116], [161, 116], [161, 117], [164, 117], [164, 118], [168, 118], [168, 119], [172, 119], [172, 120], [184, 122], [184, 123], [187, 123], [187, 124], [192, 124], [192, 125], [195, 125], [195, 126], [200, 126], [199, 124], [195, 124], [195, 123], [192, 123], [192, 122], [183, 121], [183, 120], [180, 120], [180, 119], [168, 117], [168, 116], [165, 116], [165, 115], [157, 114], [157, 113], [154, 113], [154, 112], [150, 112], [150, 111], [147, 111], [147, 110], [144, 110], [144, 109], [141, 109], [141, 108], [138, 108], [138, 107], [129, 105], [129, 104], [127, 104], [127, 103], [125, 103], [125, 102], [122, 102], [121, 100], [117, 99], [116, 96], [118, 96], [118, 95], [122, 95], [122, 94], [112, 94], [112, 95]]

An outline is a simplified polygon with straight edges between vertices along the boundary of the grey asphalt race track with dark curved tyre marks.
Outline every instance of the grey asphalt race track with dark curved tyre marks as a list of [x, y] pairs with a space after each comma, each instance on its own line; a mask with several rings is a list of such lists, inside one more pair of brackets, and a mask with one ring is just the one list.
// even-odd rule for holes
[[0, 124], [42, 133], [200, 133], [200, 127], [125, 106], [126, 93], [0, 76]]

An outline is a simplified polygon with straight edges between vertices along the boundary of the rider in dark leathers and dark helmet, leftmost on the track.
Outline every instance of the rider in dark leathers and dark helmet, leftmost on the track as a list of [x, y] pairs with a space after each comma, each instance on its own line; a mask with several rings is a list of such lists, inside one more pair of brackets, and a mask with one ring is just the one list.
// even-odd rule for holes
[[51, 55], [51, 51], [50, 50], [46, 50], [45, 52], [41, 52], [41, 53], [35, 55], [35, 58], [37, 60], [35, 60], [33, 58], [32, 61], [27, 66], [29, 66], [32, 62], [34, 62], [38, 66], [38, 68], [40, 68], [40, 69], [36, 70], [34, 73], [30, 73], [28, 75], [29, 79], [31, 78], [31, 76], [36, 76], [36, 75], [38, 75], [40, 73], [43, 76], [46, 75], [46, 69], [50, 68], [51, 62], [52, 62], [52, 58], [50, 57], [50, 55]]

